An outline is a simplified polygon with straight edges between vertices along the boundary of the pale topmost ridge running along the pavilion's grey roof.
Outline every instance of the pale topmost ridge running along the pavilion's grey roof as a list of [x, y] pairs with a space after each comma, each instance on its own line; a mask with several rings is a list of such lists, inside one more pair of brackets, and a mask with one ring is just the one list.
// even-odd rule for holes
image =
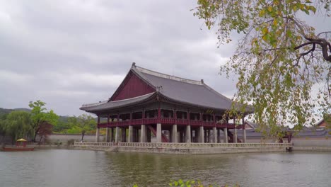
[[143, 67], [139, 67], [139, 66], [136, 66], [136, 65], [132, 66], [132, 68], [137, 69], [138, 72], [145, 73], [145, 74], [151, 74], [153, 76], [161, 77], [161, 78], [164, 78], [164, 79], [170, 79], [170, 80], [174, 80], [174, 81], [181, 81], [181, 82], [185, 82], [185, 83], [188, 83], [188, 84], [203, 85], [202, 81], [196, 81], [196, 80], [192, 80], [192, 79], [185, 79], [185, 78], [176, 77], [176, 76], [173, 76], [173, 75], [170, 75], [170, 74], [163, 74], [163, 73], [156, 72], [156, 71], [146, 69], [146, 68], [143, 68]]

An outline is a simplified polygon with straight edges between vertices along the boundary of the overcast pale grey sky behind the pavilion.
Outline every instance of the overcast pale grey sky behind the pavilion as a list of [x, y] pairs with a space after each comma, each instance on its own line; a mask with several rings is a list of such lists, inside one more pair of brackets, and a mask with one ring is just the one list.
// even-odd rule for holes
[[[195, 6], [196, 1], [168, 0], [0, 0], [0, 108], [28, 108], [40, 99], [59, 115], [80, 115], [83, 103], [112, 95], [132, 62], [204, 79], [231, 98], [235, 83], [219, 76], [219, 67], [236, 42], [217, 48], [215, 32], [190, 11]], [[330, 18], [311, 20], [318, 27], [321, 21], [331, 30]]]

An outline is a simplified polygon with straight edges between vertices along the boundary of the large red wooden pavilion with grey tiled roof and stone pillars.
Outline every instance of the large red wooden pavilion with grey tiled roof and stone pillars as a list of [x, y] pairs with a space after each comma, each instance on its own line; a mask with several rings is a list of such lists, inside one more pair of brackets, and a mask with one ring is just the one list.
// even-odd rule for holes
[[[152, 133], [156, 142], [245, 142], [245, 125], [224, 118], [232, 102], [203, 79], [174, 77], [133, 63], [107, 101], [80, 109], [98, 116], [95, 142], [100, 128], [106, 128], [106, 142], [151, 142]], [[252, 110], [242, 116], [248, 113]], [[244, 124], [243, 118], [239, 121]], [[243, 140], [237, 129], [243, 129]]]

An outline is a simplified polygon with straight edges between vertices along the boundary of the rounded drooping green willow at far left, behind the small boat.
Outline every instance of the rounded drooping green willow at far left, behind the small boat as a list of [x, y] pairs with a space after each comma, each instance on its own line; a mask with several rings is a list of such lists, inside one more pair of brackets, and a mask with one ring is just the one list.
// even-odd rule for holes
[[19, 138], [33, 137], [31, 115], [25, 111], [13, 111], [0, 120], [1, 132], [11, 137], [12, 142]]

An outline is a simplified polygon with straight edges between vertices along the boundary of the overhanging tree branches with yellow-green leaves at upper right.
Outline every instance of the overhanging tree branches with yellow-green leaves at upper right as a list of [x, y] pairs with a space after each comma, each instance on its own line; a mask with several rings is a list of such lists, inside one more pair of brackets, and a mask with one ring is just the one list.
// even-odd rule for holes
[[[243, 36], [221, 73], [238, 74], [234, 100], [242, 111], [252, 104], [260, 125], [302, 128], [313, 108], [330, 112], [331, 31], [315, 33], [299, 19], [316, 11], [330, 16], [330, 2], [198, 0], [194, 16], [217, 28], [221, 44], [231, 42], [233, 31]], [[320, 84], [325, 86], [313, 99], [312, 86]]]

